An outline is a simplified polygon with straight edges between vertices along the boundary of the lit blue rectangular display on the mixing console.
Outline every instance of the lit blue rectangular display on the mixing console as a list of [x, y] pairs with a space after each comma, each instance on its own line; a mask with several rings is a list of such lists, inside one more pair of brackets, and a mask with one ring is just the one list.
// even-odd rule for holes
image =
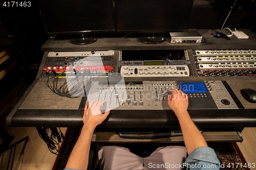
[[184, 93], [205, 93], [208, 92], [204, 83], [179, 83]]

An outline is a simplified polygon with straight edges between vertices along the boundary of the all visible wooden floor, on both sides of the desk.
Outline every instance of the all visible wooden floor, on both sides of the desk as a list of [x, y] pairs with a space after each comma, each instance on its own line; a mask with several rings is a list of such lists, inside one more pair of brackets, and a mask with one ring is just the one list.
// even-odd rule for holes
[[[22, 82], [20, 82], [21, 85]], [[18, 102], [18, 99], [22, 96], [22, 94], [26, 91], [28, 87], [23, 86], [23, 88], [17, 88], [7, 96], [6, 100], [0, 105], [0, 122], [1, 126], [7, 131], [9, 135], [15, 136], [12, 143], [29, 136], [29, 141], [27, 143], [27, 147], [25, 149], [25, 153], [20, 157], [19, 151], [20, 147], [17, 147], [16, 157], [14, 162], [13, 169], [19, 170], [51, 170], [56, 159], [56, 155], [52, 154], [46, 145], [46, 143], [39, 137], [36, 128], [32, 127], [7, 127], [5, 125], [5, 117], [4, 115], [8, 115], [8, 112], [15, 106]], [[20, 94], [20, 92], [22, 94]], [[9, 101], [9, 102], [6, 102]], [[67, 128], [61, 128], [63, 134], [65, 134]], [[245, 128], [241, 133], [244, 141], [242, 143], [238, 142], [238, 146], [245, 157], [247, 163], [256, 163], [256, 128]], [[11, 144], [12, 144], [11, 143]], [[20, 143], [23, 145], [23, 143]], [[8, 155], [0, 156], [0, 169], [3, 168], [8, 162]], [[251, 170], [256, 170], [256, 168], [251, 168]]]

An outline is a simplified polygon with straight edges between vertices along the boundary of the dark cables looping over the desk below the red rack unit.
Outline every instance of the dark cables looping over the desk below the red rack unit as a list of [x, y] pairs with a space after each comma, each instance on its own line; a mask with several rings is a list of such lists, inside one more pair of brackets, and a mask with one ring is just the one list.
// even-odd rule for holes
[[[67, 72], [69, 72], [69, 75]], [[95, 71], [95, 72], [94, 72]], [[43, 74], [46, 74], [48, 79], [45, 80], [45, 76], [43, 75], [44, 81], [49, 89], [52, 90], [52, 92], [60, 95], [60, 96], [66, 96], [67, 98], [78, 98], [79, 96], [83, 96], [86, 91], [90, 88], [88, 83], [88, 77], [93, 77], [94, 74], [97, 74], [97, 70], [93, 70], [93, 72], [90, 71], [90, 69], [83, 69], [81, 71], [78, 70], [66, 70], [66, 72], [61, 72], [60, 74], [57, 74], [54, 70], [49, 70], [48, 72], [46, 70], [43, 70]], [[58, 80], [60, 77], [65, 76], [66, 79], [63, 82], [63, 84], [58, 85]], [[67, 81], [68, 77], [74, 77], [70, 78], [69, 81]], [[86, 83], [84, 83], [86, 80]]]

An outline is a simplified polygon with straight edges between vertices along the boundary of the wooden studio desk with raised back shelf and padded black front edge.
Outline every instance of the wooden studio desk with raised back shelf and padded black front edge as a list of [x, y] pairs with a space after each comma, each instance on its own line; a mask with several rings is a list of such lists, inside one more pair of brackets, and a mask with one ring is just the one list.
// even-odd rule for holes
[[[49, 51], [95, 51], [95, 50], [172, 50], [190, 49], [253, 49], [256, 47], [256, 35], [249, 30], [243, 30], [250, 38], [231, 40], [212, 37], [211, 30], [199, 30], [206, 43], [194, 44], [142, 44], [136, 38], [105, 38], [88, 45], [74, 45], [69, 40], [49, 39], [42, 50]], [[115, 55], [118, 53], [115, 53]], [[190, 55], [191, 56], [191, 55]], [[7, 117], [9, 126], [30, 127], [81, 127], [83, 110], [79, 110], [82, 98], [69, 99], [53, 93], [40, 78], [47, 53], [42, 59], [38, 75], [34, 83], [24, 94]], [[117, 56], [115, 56], [117, 57]], [[189, 57], [192, 60], [194, 57]], [[117, 60], [116, 60], [117, 61]], [[195, 69], [195, 62], [191, 62]], [[195, 71], [194, 71], [195, 72]], [[158, 81], [168, 81], [169, 78], [157, 78]], [[256, 90], [256, 77], [176, 77], [172, 81], [227, 81], [231, 90], [245, 109], [239, 110], [188, 110], [191, 118], [199, 128], [244, 128], [256, 126], [256, 104], [244, 100], [240, 94], [243, 88]], [[156, 81], [156, 78], [125, 78], [125, 81]], [[179, 128], [178, 119], [171, 110], [140, 111], [112, 110], [110, 116], [99, 126], [101, 128]]]

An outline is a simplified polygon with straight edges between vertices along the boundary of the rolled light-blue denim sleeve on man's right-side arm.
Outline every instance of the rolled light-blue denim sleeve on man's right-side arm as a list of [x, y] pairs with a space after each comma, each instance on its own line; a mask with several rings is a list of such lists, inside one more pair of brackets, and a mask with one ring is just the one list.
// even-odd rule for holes
[[198, 147], [186, 158], [187, 169], [220, 169], [220, 161], [215, 151], [209, 147]]

